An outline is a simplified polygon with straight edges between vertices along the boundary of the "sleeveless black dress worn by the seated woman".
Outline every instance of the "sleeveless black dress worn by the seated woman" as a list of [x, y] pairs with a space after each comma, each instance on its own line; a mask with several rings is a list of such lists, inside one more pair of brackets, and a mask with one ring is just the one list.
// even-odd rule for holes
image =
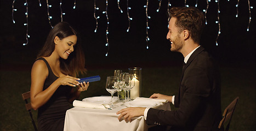
[[[42, 59], [48, 68], [48, 77], [45, 79], [43, 91], [46, 90], [58, 77], [53, 74], [48, 62]], [[59, 86], [53, 96], [38, 109], [38, 130], [63, 130], [66, 111], [70, 109], [69, 96], [72, 90], [71, 86]]]

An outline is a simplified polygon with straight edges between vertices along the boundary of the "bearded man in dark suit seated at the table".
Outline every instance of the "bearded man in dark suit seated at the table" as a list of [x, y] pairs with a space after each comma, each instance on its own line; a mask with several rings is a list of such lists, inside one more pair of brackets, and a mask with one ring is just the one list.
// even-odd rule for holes
[[171, 126], [177, 130], [218, 130], [221, 120], [220, 77], [218, 66], [202, 46], [204, 26], [201, 11], [192, 7], [170, 9], [167, 39], [171, 51], [184, 56], [185, 66], [177, 96], [153, 94], [150, 98], [167, 99], [178, 110], [126, 108], [117, 112], [118, 119], [130, 121], [143, 116], [147, 124]]

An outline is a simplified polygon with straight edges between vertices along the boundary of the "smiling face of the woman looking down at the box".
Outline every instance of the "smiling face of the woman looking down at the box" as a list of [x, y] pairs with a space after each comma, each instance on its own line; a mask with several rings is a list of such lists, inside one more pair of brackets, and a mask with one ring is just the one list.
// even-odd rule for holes
[[74, 47], [77, 42], [76, 35], [70, 35], [69, 37], [65, 37], [60, 39], [59, 37], [55, 37], [55, 50], [58, 53], [59, 57], [63, 59], [67, 59], [69, 55], [74, 51]]

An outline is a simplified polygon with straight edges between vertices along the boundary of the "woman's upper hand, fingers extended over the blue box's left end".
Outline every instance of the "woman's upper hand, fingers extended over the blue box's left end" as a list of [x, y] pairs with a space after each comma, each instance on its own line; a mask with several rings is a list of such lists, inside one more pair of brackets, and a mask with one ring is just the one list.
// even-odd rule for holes
[[69, 75], [61, 76], [57, 79], [59, 81], [60, 85], [67, 85], [67, 86], [79, 86], [79, 82], [77, 80], [80, 80], [79, 78], [74, 78]]

